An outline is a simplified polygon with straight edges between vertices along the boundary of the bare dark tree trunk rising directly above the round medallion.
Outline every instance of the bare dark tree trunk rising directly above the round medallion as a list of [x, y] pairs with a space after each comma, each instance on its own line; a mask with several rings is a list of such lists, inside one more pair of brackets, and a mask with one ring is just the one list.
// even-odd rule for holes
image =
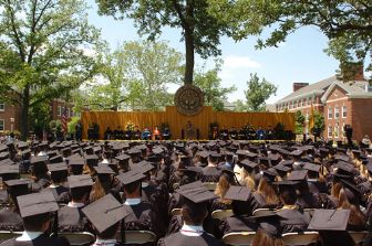
[[190, 29], [185, 29], [185, 45], [186, 45], [186, 67], [184, 83], [193, 84], [194, 78], [194, 36]]

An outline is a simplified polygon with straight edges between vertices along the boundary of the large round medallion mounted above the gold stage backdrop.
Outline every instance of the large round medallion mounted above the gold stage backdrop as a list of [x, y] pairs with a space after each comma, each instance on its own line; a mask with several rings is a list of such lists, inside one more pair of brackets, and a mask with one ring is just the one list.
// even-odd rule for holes
[[175, 95], [177, 110], [187, 116], [193, 116], [202, 111], [204, 106], [204, 94], [195, 85], [186, 84], [177, 89]]

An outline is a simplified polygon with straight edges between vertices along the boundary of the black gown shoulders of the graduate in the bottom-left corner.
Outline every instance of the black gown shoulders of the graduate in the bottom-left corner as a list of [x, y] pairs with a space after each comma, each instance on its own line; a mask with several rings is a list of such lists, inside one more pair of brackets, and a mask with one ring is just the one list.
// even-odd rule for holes
[[70, 246], [70, 243], [64, 237], [49, 238], [43, 234], [33, 240], [17, 242], [16, 239], [6, 240], [0, 246]]

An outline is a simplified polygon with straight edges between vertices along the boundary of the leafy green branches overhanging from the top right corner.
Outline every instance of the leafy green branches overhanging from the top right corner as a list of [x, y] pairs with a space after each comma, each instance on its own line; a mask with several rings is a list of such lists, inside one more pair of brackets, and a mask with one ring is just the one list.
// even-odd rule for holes
[[338, 58], [342, 67], [363, 62], [372, 49], [372, 7], [368, 0], [209, 2], [210, 13], [230, 23], [230, 34], [236, 40], [262, 34], [266, 26], [271, 26], [271, 33], [265, 34], [266, 40], [259, 40], [258, 47], [277, 46], [301, 26], [314, 25], [330, 40], [327, 52]]

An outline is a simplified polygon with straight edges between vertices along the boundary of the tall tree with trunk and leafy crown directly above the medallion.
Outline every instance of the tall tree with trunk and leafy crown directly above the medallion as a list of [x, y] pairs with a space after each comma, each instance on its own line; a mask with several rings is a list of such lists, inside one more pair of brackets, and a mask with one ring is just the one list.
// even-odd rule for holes
[[227, 33], [226, 23], [209, 14], [208, 0], [96, 0], [100, 13], [116, 19], [131, 18], [135, 21], [138, 33], [147, 34], [154, 41], [162, 28], [182, 30], [185, 42], [185, 76], [184, 83], [193, 83], [195, 52], [206, 58], [219, 55], [219, 39]]

